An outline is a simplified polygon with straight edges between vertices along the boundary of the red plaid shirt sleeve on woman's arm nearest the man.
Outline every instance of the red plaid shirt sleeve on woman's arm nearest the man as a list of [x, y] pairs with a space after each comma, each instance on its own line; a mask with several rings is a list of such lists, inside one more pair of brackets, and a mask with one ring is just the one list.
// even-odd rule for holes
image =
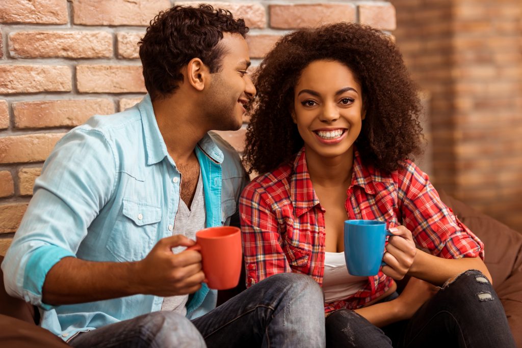
[[281, 247], [276, 215], [258, 188], [251, 182], [239, 201], [247, 288], [269, 276], [292, 271]]

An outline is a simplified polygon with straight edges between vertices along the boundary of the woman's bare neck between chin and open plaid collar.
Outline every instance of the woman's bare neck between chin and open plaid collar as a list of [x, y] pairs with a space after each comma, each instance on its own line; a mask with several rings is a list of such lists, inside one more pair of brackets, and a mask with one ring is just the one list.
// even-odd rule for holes
[[306, 151], [306, 166], [310, 180], [322, 187], [349, 186], [352, 180], [353, 151], [337, 157], [319, 156], [313, 151]]

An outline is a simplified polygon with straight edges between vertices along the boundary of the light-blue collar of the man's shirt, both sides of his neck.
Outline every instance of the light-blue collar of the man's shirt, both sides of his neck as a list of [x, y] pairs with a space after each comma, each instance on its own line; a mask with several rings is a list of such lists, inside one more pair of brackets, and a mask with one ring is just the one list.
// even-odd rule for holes
[[[159, 163], [165, 157], [169, 157], [169, 152], [167, 151], [167, 145], [165, 145], [165, 141], [158, 127], [158, 122], [156, 122], [156, 116], [154, 115], [149, 94], [145, 95], [138, 107], [143, 125], [147, 165], [150, 166]], [[205, 134], [203, 139], [198, 142], [198, 146], [213, 161], [217, 163], [223, 162], [223, 152], [212, 141], [210, 135]]]

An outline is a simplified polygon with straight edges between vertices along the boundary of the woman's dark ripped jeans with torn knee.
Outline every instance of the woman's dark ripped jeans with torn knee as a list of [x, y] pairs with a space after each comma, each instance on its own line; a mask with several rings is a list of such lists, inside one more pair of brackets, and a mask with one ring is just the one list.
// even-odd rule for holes
[[352, 310], [330, 314], [326, 318], [326, 346], [516, 347], [499, 297], [477, 270], [458, 276], [411, 319], [382, 329]]

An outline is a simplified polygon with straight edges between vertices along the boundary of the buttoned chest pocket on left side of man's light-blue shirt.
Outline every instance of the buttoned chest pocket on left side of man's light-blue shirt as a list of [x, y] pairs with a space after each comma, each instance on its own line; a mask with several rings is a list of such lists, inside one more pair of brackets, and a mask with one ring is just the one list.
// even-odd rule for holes
[[156, 242], [161, 208], [128, 198], [122, 203], [122, 214], [116, 218], [107, 248], [118, 261], [138, 261]]

